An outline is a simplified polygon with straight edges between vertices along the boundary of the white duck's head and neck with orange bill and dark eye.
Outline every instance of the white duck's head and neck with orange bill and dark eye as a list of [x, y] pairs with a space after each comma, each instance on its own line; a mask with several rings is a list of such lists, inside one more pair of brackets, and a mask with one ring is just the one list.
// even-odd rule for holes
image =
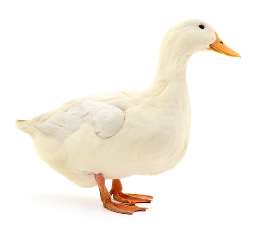
[[[169, 29], [162, 41], [156, 80], [185, 78], [186, 64], [194, 53], [215, 51], [240, 57], [220, 40], [215, 29], [202, 20], [186, 20]], [[181, 74], [182, 73], [182, 74]]]

